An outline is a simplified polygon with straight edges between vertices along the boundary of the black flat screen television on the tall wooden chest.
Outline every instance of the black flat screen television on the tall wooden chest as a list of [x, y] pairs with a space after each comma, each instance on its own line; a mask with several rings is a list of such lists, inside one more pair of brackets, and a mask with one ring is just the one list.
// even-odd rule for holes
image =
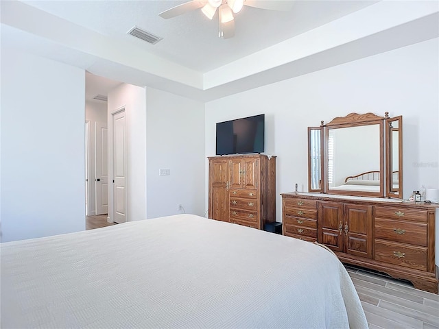
[[265, 114], [217, 123], [216, 154], [263, 153]]

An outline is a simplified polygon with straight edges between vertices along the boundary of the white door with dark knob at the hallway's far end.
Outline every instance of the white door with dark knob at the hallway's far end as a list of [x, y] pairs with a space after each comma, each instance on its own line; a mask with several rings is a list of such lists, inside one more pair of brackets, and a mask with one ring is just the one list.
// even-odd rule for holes
[[95, 201], [96, 215], [108, 213], [108, 139], [107, 124], [96, 123]]

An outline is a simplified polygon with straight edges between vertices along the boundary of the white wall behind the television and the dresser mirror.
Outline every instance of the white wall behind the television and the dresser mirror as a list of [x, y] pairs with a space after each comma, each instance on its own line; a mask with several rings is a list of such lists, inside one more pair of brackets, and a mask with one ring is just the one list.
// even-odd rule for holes
[[[265, 113], [265, 153], [276, 160], [279, 193], [307, 191], [307, 127], [351, 112], [403, 115], [403, 196], [439, 187], [438, 38], [206, 103], [206, 156], [215, 123]], [[207, 176], [205, 193], [207, 195]]]

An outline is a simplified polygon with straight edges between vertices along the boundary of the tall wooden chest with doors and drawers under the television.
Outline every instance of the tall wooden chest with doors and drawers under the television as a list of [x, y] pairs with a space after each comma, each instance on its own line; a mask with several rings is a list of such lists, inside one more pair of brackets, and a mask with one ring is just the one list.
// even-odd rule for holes
[[261, 230], [276, 219], [276, 157], [209, 157], [209, 218]]

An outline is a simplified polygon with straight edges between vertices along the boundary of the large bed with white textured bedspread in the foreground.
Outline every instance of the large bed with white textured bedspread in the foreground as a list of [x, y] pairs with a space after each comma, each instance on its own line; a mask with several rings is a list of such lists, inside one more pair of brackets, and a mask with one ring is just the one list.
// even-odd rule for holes
[[1, 328], [367, 328], [324, 247], [176, 215], [1, 244]]

